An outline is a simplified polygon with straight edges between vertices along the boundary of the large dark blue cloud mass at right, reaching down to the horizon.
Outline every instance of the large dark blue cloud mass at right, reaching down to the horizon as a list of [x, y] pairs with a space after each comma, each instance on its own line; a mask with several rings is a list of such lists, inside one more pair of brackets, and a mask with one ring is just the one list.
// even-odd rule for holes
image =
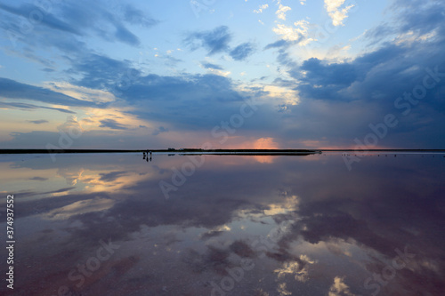
[[[394, 114], [398, 126], [388, 130], [379, 145], [393, 148], [436, 148], [445, 145], [445, 29], [442, 2], [397, 1], [396, 17], [365, 35], [372, 50], [354, 60], [309, 59], [296, 63], [287, 48], [279, 50], [280, 67], [295, 79], [300, 104], [287, 106], [284, 138], [327, 139], [328, 143], [353, 147], [354, 138], [371, 132], [368, 125], [381, 123]], [[432, 16], [431, 18], [429, 16]], [[440, 17], [441, 16], [441, 17]], [[392, 40], [392, 41], [389, 41]], [[277, 44], [279, 45], [279, 44]], [[431, 75], [431, 73], [435, 73]], [[434, 83], [416, 105], [396, 106], [396, 100], [427, 82]], [[413, 96], [413, 95], [411, 95]], [[342, 116], [338, 116], [341, 114]], [[298, 121], [299, 127], [291, 127]], [[334, 123], [334, 124], [333, 124]], [[349, 139], [349, 140], [348, 140]]]

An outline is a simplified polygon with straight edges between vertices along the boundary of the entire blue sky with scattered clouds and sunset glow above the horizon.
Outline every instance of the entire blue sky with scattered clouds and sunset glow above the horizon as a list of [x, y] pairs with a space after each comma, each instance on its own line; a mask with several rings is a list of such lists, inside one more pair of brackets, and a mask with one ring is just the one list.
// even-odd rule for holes
[[441, 0], [0, 1], [0, 148], [444, 148]]

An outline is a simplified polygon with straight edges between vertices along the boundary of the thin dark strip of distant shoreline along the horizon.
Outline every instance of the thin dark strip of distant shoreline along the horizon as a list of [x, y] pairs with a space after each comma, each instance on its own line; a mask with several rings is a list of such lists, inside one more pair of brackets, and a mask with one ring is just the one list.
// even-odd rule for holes
[[206, 154], [206, 155], [311, 155], [323, 152], [439, 152], [445, 149], [0, 149], [0, 154], [78, 154], [78, 153], [143, 153], [151, 151], [158, 154]]

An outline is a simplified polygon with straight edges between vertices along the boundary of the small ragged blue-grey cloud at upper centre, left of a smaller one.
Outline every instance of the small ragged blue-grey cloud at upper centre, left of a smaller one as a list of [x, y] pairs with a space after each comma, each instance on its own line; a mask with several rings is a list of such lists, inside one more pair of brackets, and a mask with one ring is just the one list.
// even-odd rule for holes
[[231, 42], [231, 33], [229, 28], [221, 26], [211, 31], [202, 31], [191, 33], [184, 40], [191, 50], [197, 50], [198, 47], [204, 47], [209, 55], [217, 52], [225, 52], [229, 49]]

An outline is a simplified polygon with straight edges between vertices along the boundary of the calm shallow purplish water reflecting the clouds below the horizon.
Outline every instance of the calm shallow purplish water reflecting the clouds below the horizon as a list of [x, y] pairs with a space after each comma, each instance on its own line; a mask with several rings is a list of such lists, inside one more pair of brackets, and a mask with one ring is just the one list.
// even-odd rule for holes
[[193, 157], [0, 156], [0, 293], [445, 295], [442, 155]]

